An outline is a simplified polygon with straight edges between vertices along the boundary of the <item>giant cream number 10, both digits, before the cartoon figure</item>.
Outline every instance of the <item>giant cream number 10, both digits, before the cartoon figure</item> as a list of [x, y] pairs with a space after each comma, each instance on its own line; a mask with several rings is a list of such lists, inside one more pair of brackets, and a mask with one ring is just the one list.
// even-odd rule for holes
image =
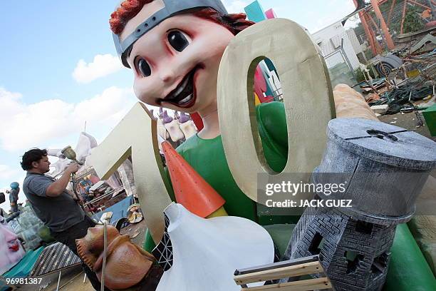
[[[326, 145], [326, 125], [335, 115], [325, 63], [301, 26], [271, 19], [245, 29], [231, 41], [219, 67], [219, 123], [234, 180], [255, 201], [257, 174], [281, 175], [267, 165], [256, 127], [252, 88], [256, 64], [264, 57], [276, 65], [285, 94], [289, 153], [283, 173], [310, 173], [318, 165]], [[147, 228], [159, 242], [164, 230], [162, 211], [171, 200], [162, 178], [156, 123], [141, 103], [93, 150], [88, 163], [105, 179], [129, 155]]]

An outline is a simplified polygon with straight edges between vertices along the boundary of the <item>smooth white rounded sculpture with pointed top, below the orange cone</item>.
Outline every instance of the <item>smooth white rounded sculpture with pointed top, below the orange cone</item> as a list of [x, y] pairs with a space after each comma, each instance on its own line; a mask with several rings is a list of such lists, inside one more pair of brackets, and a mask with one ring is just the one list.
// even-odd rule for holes
[[204, 219], [175, 203], [164, 213], [170, 220], [167, 233], [173, 262], [157, 291], [239, 291], [233, 280], [235, 270], [274, 262], [269, 233], [251, 220], [233, 216]]

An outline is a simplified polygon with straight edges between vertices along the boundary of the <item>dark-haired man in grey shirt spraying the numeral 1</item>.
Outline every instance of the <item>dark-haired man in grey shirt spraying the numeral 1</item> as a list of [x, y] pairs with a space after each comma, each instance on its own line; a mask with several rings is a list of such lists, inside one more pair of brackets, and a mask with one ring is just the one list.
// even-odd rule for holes
[[[78, 170], [77, 163], [68, 165], [61, 178], [56, 180], [44, 175], [50, 170], [47, 151], [34, 148], [24, 153], [21, 168], [27, 171], [23, 183], [24, 194], [36, 216], [50, 228], [53, 238], [77, 255], [76, 239], [83, 238], [88, 228], [95, 226], [66, 190], [71, 173]], [[84, 262], [82, 267], [95, 290], [100, 290], [95, 273]]]

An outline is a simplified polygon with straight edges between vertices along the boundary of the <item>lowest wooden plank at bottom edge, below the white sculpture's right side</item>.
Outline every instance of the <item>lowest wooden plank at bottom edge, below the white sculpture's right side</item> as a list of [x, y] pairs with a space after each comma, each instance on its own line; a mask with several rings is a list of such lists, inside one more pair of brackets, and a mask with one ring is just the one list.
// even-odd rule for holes
[[318, 278], [311, 280], [303, 280], [296, 282], [287, 282], [274, 285], [266, 285], [259, 287], [248, 287], [242, 288], [241, 291], [269, 291], [269, 290], [279, 290], [279, 291], [310, 291], [310, 290], [323, 290], [331, 289], [331, 282], [328, 278]]

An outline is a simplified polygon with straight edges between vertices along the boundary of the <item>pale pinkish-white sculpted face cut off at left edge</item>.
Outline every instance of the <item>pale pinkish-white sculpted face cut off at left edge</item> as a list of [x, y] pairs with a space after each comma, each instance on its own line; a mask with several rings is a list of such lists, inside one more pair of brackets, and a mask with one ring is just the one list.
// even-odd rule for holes
[[6, 219], [0, 216], [0, 274], [14, 266], [25, 254], [18, 237]]

